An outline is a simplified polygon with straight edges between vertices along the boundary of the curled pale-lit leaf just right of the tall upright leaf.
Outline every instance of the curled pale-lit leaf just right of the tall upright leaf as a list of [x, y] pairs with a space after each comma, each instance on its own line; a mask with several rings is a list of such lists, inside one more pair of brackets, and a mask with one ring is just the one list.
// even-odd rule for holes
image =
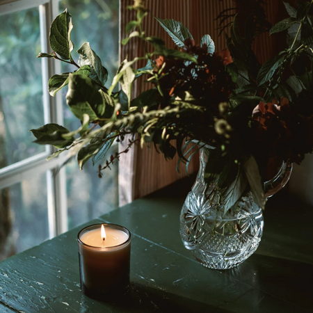
[[89, 42], [84, 42], [83, 45], [77, 50], [79, 56], [79, 64], [89, 63], [95, 72], [90, 73], [90, 78], [100, 83], [102, 86], [105, 85], [108, 80], [108, 71], [102, 65], [101, 59], [93, 49], [90, 48]]

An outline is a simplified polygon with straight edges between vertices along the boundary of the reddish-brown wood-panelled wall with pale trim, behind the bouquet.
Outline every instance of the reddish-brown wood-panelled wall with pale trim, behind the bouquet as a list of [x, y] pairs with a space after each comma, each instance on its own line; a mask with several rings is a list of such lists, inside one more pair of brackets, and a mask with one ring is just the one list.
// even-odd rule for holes
[[[278, 22], [278, 11], [280, 10], [279, 1], [268, 1], [268, 19], [274, 24]], [[125, 38], [125, 26], [127, 22], [134, 19], [134, 13], [127, 11], [126, 7], [133, 3], [132, 0], [120, 0], [120, 38]], [[225, 8], [234, 7], [232, 0], [147, 0], [147, 8], [150, 9], [150, 16], [145, 19], [143, 24], [147, 35], [156, 35], [161, 37], [167, 47], [174, 48], [172, 39], [161, 28], [157, 20], [152, 16], [162, 19], [175, 19], [182, 22], [193, 35], [195, 43], [198, 44], [202, 35], [209, 34], [214, 40], [216, 51], [226, 48], [225, 38], [218, 36], [218, 21], [216, 17]], [[152, 16], [151, 16], [152, 15]], [[277, 38], [268, 38], [268, 34], [259, 36], [255, 40], [253, 49], [261, 63], [264, 63], [277, 51]], [[131, 40], [127, 47], [122, 46], [120, 49], [121, 58], [125, 56], [129, 59], [134, 56], [143, 55], [141, 45], [136, 40]], [[138, 63], [138, 68], [145, 66], [143, 62]], [[136, 97], [143, 90], [146, 90], [147, 84], [143, 83], [143, 79], [138, 79], [134, 83], [133, 97]], [[151, 86], [149, 87], [151, 88]], [[123, 146], [121, 147], [123, 149]], [[158, 188], [162, 188], [175, 180], [186, 176], [186, 171], [182, 168], [180, 173], [175, 172], [177, 157], [172, 161], [165, 161], [163, 154], [158, 154], [154, 150], [140, 147], [134, 147], [126, 155], [122, 155], [120, 159], [120, 204], [125, 204], [136, 198], [142, 197], [147, 193], [151, 193]], [[132, 164], [131, 168], [129, 164]], [[125, 166], [126, 165], [126, 166]], [[136, 170], [137, 169], [137, 170]], [[190, 165], [190, 172], [198, 169], [198, 159], [193, 158]], [[122, 182], [127, 182], [129, 186], [121, 186]], [[127, 194], [127, 196], [125, 196]], [[127, 202], [124, 200], [127, 199]], [[124, 201], [124, 202], [123, 202]]]

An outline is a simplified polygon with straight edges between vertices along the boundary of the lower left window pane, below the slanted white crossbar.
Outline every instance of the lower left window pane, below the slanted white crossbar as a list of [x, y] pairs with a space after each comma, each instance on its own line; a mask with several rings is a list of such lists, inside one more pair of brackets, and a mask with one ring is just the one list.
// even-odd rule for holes
[[47, 239], [47, 173], [1, 189], [0, 260]]

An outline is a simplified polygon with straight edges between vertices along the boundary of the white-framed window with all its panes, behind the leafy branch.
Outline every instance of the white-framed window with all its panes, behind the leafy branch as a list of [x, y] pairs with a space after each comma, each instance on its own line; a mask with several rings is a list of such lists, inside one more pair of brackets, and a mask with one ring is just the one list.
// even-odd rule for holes
[[[67, 71], [55, 60], [35, 58], [49, 49], [49, 26], [69, 10], [76, 51], [88, 41], [113, 78], [118, 66], [118, 0], [5, 0], [0, 2], [0, 259], [31, 248], [118, 206], [118, 168], [97, 178], [91, 163], [66, 156], [47, 162], [53, 152], [33, 143], [30, 129], [56, 122], [76, 129], [63, 99], [50, 97], [47, 82]], [[105, 37], [102, 34], [106, 34]], [[73, 52], [74, 52], [73, 51]], [[72, 54], [77, 58], [75, 52]], [[62, 66], [62, 67], [61, 67]], [[110, 83], [110, 81], [109, 81]], [[111, 147], [112, 154], [118, 145]]]

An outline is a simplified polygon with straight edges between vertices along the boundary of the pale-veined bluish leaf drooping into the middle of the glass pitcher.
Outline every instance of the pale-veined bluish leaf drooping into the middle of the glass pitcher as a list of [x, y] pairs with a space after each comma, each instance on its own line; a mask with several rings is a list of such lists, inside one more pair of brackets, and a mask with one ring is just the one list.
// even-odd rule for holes
[[240, 170], [236, 175], [236, 178], [228, 186], [228, 188], [222, 193], [222, 202], [224, 204], [224, 214], [234, 206], [234, 204], [239, 200], [243, 191], [245, 191], [247, 186], [246, 175]]

